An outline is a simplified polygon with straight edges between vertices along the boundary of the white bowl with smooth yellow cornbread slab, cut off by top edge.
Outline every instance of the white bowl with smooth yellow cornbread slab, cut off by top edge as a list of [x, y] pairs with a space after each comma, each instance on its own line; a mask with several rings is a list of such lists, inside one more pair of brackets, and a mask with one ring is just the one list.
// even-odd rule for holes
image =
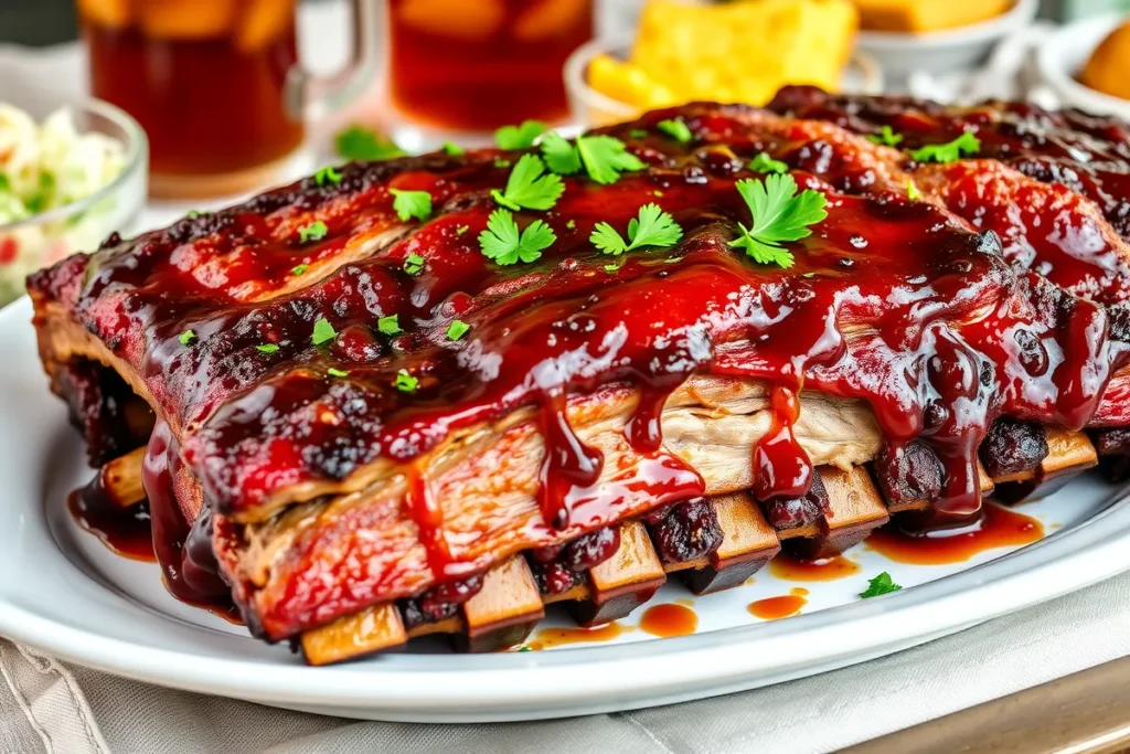
[[1038, 0], [855, 0], [858, 50], [890, 79], [970, 69], [1032, 24]]

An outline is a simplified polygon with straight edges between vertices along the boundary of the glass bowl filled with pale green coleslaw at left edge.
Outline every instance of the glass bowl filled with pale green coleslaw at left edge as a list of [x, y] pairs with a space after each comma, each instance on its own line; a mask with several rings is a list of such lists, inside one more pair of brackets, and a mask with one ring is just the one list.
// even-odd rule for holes
[[43, 113], [0, 102], [0, 306], [31, 272], [130, 233], [148, 158], [141, 127], [105, 102]]

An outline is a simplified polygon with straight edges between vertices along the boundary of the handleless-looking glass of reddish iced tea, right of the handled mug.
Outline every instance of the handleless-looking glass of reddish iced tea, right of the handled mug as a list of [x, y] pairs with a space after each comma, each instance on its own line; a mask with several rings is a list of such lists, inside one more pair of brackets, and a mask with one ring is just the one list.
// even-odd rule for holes
[[562, 69], [592, 38], [593, 0], [386, 0], [393, 137], [475, 141], [568, 115]]

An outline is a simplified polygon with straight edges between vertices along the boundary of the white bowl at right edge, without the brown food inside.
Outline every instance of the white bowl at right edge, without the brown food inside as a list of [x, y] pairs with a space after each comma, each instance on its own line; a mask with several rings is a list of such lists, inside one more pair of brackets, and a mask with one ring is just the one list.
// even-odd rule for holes
[[1040, 45], [1040, 83], [1051, 90], [1059, 106], [1130, 121], [1130, 101], [1096, 92], [1076, 79], [1095, 49], [1125, 21], [1127, 17], [1118, 14], [1076, 21], [1058, 28]]

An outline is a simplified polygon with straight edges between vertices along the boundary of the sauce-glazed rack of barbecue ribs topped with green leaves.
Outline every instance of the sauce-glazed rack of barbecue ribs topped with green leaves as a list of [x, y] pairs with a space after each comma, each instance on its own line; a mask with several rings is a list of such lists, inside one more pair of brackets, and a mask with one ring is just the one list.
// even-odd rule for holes
[[312, 664], [481, 651], [1124, 477], [1128, 175], [1112, 120], [790, 89], [321, 171], [28, 288], [169, 590]]

